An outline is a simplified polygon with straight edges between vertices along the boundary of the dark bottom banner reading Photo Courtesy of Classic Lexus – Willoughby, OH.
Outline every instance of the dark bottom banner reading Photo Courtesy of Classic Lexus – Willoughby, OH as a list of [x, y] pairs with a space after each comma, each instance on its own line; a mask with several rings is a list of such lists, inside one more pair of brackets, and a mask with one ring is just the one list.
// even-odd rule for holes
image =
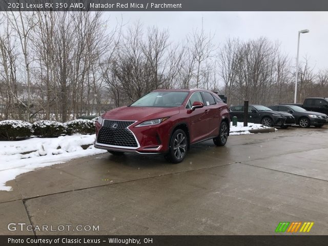
[[327, 245], [328, 236], [0, 236], [1, 246]]

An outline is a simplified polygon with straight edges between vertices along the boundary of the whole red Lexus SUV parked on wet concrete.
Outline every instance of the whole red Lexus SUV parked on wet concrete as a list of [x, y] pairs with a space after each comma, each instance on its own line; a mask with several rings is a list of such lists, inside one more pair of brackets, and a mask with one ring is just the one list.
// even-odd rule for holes
[[215, 93], [155, 90], [101, 115], [94, 146], [112, 154], [165, 154], [178, 163], [197, 142], [212, 138], [216, 146], [225, 145], [229, 128], [229, 109]]

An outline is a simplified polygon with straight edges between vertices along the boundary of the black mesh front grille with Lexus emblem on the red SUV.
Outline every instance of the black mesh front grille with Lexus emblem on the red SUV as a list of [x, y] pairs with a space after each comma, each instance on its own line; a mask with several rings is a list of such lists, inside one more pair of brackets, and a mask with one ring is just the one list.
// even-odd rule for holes
[[[97, 142], [99, 144], [138, 147], [132, 132], [128, 129], [135, 121], [104, 120], [104, 126], [98, 132]], [[117, 124], [117, 128], [112, 128]]]

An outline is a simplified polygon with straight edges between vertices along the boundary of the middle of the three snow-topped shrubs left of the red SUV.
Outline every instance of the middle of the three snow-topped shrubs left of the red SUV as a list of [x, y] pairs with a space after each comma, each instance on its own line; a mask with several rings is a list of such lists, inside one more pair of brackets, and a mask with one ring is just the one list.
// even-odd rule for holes
[[58, 137], [66, 134], [66, 125], [57, 121], [39, 120], [33, 123], [34, 135], [39, 137]]

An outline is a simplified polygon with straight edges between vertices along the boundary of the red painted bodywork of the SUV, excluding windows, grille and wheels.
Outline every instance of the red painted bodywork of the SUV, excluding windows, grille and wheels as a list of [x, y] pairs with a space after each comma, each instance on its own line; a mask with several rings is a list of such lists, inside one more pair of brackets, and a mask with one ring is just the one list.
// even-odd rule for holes
[[[168, 91], [168, 90], [162, 90]], [[214, 138], [219, 135], [219, 127], [222, 120], [227, 121], [230, 126], [229, 109], [226, 104], [218, 102], [216, 105], [204, 106], [194, 111], [186, 109], [190, 96], [194, 92], [209, 92], [206, 90], [179, 90], [187, 91], [189, 94], [182, 105], [173, 108], [157, 107], [120, 107], [106, 112], [102, 117], [109, 120], [136, 121], [128, 127], [138, 141], [138, 148], [133, 151], [139, 153], [166, 153], [169, 150], [171, 134], [175, 127], [185, 125], [188, 128], [189, 144], [201, 140]], [[216, 94], [210, 92], [213, 96]], [[136, 127], [146, 120], [169, 117], [158, 125]], [[96, 122], [96, 136], [102, 126]], [[97, 138], [96, 138], [97, 139]], [[95, 147], [99, 148], [97, 141]], [[106, 147], [102, 146], [102, 149]], [[152, 149], [151, 149], [152, 148]], [[115, 147], [108, 148], [115, 150]], [[131, 151], [126, 148], [117, 148], [118, 151]]]

